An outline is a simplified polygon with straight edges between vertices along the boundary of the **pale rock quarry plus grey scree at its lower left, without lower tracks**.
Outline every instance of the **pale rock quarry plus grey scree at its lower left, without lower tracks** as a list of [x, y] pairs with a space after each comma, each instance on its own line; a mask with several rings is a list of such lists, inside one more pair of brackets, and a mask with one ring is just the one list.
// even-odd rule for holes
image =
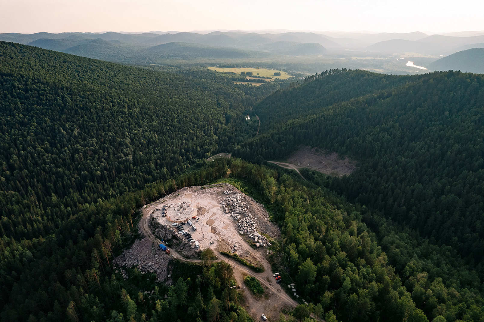
[[[198, 253], [207, 248], [264, 265], [270, 252], [266, 248], [281, 236], [262, 205], [227, 183], [182, 188], [143, 206], [141, 212], [141, 239], [114, 260], [124, 278], [125, 268], [136, 267], [170, 283], [173, 258], [197, 262]], [[169, 251], [160, 249], [160, 243]]]

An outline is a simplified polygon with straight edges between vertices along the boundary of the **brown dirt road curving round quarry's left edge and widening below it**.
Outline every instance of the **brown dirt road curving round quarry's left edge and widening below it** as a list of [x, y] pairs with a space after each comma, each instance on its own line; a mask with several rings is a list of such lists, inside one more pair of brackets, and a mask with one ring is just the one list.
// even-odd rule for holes
[[[151, 230], [149, 227], [149, 213], [147, 209], [142, 208], [141, 211], [142, 211], [143, 217], [141, 218], [139, 223], [140, 229], [153, 242], [157, 244], [161, 244], [161, 240], [159, 240], [156, 236], [154, 236], [151, 233]], [[244, 274], [257, 278], [260, 281], [260, 284], [266, 289], [266, 293], [268, 293], [269, 298], [264, 298], [264, 299], [254, 298], [248, 290], [246, 290], [245, 292], [247, 295], [248, 310], [253, 315], [253, 317], [257, 318], [258, 316], [260, 318], [260, 314], [264, 313], [268, 317], [272, 315], [273, 318], [275, 319], [275, 318], [278, 318], [278, 312], [281, 308], [286, 306], [296, 307], [299, 303], [293, 300], [282, 289], [282, 285], [286, 285], [286, 284], [281, 285], [275, 282], [275, 279], [272, 276], [271, 265], [265, 258], [264, 254], [261, 253], [262, 251], [266, 251], [266, 250], [262, 249], [260, 251], [257, 251], [255, 249], [251, 249], [251, 255], [256, 257], [259, 263], [261, 263], [262, 266], [264, 267], [264, 272], [262, 273], [255, 273], [251, 269], [242, 265], [241, 263], [238, 263], [233, 259], [224, 257], [222, 254], [220, 254], [217, 251], [214, 251], [214, 252], [218, 257], [216, 261], [224, 260], [227, 263], [232, 265], [232, 268], [234, 269], [234, 276], [237, 279], [239, 285], [241, 285], [242, 289], [245, 289], [245, 286], [243, 284]], [[174, 256], [174, 258], [179, 259], [181, 261], [191, 262], [191, 263], [201, 262], [201, 260], [199, 259], [183, 258], [181, 254], [179, 254], [177, 251], [173, 249], [170, 249], [170, 253]]]

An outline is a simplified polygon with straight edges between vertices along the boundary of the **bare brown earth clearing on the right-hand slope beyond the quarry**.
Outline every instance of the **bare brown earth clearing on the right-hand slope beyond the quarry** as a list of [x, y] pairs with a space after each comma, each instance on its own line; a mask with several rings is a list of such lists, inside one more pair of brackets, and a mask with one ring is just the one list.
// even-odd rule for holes
[[[336, 152], [317, 152], [316, 148], [310, 148], [309, 146], [302, 147], [290, 155], [287, 158], [287, 163], [270, 162], [286, 169], [297, 171], [297, 169], [308, 168], [330, 176], [348, 176], [356, 169], [356, 165], [348, 157], [341, 159]], [[301, 174], [299, 173], [299, 175]]]

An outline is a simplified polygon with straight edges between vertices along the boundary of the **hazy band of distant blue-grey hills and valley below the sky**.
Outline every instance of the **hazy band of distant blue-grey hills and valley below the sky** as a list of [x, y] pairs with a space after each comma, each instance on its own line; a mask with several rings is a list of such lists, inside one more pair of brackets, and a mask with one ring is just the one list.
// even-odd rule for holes
[[[342, 66], [379, 73], [424, 71], [407, 66], [408, 61], [430, 71], [440, 70], [437, 66], [459, 70], [460, 65], [450, 63], [452, 60], [437, 61], [459, 51], [484, 47], [484, 31], [450, 35], [267, 31], [6, 33], [0, 34], [0, 40], [129, 64], [259, 62], [271, 67], [276, 62], [302, 73]], [[482, 64], [483, 57], [476, 52], [469, 58], [467, 52], [460, 55]], [[471, 66], [466, 72], [480, 71]]]

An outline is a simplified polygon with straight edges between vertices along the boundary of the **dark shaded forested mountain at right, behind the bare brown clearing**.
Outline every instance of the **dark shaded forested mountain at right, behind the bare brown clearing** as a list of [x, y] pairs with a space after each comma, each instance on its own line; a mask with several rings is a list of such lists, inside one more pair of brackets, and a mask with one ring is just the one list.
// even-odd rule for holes
[[[372, 78], [379, 88], [365, 94]], [[321, 73], [257, 104], [259, 136], [234, 154], [273, 160], [308, 145], [356, 158], [359, 168], [334, 178], [333, 189], [451, 246], [482, 279], [483, 82], [480, 74], [459, 72]], [[324, 90], [341, 83], [349, 100]], [[289, 110], [301, 117], [287, 117]]]

